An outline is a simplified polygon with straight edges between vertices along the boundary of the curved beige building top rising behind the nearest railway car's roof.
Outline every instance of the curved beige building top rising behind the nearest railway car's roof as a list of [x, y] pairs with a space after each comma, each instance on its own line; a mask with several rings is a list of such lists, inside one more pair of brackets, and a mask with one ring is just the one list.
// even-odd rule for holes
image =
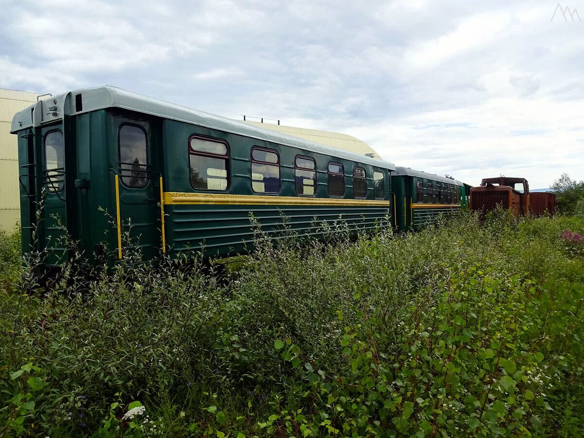
[[[366, 142], [359, 138], [347, 134], [331, 133], [329, 131], [319, 131], [317, 129], [297, 128], [294, 126], [283, 126], [273, 123], [260, 123], [258, 121], [245, 120], [253, 126], [278, 131], [280, 133], [292, 135], [293, 137], [304, 138], [304, 140], [314, 141], [315, 143], [324, 144], [333, 148], [342, 149], [355, 154], [365, 155], [380, 159], [380, 155], [371, 148]], [[372, 154], [372, 155], [371, 155]]]

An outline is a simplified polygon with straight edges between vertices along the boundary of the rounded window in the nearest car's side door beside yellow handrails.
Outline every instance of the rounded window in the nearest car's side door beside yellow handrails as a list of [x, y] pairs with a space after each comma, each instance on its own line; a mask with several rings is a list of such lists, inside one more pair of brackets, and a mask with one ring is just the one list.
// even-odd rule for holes
[[134, 189], [148, 183], [148, 153], [146, 131], [141, 126], [125, 124], [120, 127], [121, 182]]

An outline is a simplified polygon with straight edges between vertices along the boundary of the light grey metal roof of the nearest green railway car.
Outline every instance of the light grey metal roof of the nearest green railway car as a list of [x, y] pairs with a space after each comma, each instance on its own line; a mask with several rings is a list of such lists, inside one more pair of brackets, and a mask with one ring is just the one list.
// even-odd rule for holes
[[[78, 97], [79, 95], [81, 97]], [[81, 103], [81, 105], [78, 105], [78, 103]], [[81, 107], [79, 110], [77, 110], [78, 106]], [[34, 105], [15, 114], [12, 120], [11, 132], [15, 133], [24, 128], [48, 124], [62, 119], [63, 115], [73, 116], [105, 108], [132, 110], [142, 114], [162, 117], [163, 119], [184, 121], [232, 134], [258, 138], [258, 140], [297, 147], [317, 154], [331, 155], [332, 157], [369, 164], [378, 168], [389, 169], [390, 171], [395, 171], [396, 169], [395, 164], [389, 161], [325, 146], [314, 141], [190, 109], [164, 100], [149, 98], [109, 85], [78, 89], [62, 95], [41, 99]]]

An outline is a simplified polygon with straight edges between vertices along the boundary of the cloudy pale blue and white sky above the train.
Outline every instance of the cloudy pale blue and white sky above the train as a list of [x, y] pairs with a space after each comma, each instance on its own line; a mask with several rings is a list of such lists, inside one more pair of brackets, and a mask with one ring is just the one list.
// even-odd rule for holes
[[471, 184], [584, 179], [584, 22], [509, 3], [0, 0], [0, 88], [273, 117]]

